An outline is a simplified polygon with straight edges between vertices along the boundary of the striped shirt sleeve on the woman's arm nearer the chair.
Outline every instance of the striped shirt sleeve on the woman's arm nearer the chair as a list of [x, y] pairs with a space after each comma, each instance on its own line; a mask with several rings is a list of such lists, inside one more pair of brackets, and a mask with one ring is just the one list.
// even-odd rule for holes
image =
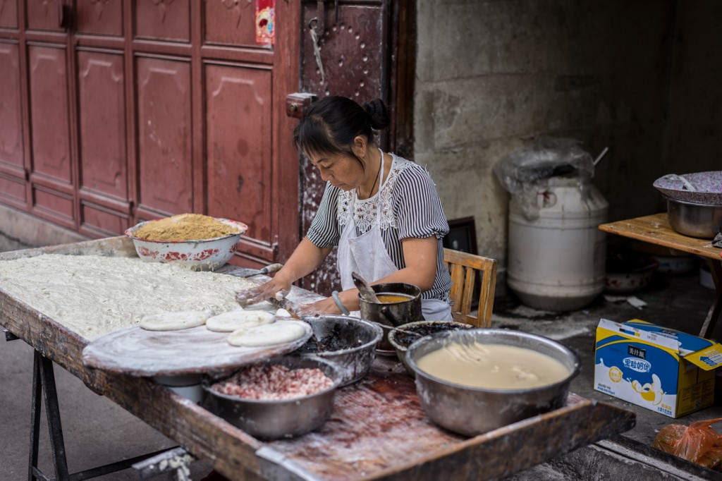
[[434, 181], [425, 168], [414, 165], [399, 174], [393, 188], [393, 215], [399, 238], [427, 238], [448, 234], [441, 201]]

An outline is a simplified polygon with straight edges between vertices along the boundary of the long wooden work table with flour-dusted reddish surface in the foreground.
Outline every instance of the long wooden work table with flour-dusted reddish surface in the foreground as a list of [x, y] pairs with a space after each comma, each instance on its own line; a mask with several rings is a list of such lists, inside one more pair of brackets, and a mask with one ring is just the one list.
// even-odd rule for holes
[[[130, 256], [126, 241], [111, 238], [25, 255]], [[17, 252], [22, 251], [0, 254], [0, 261], [23, 255]], [[558, 410], [474, 438], [458, 436], [425, 417], [414, 380], [395, 358], [377, 358], [365, 378], [339, 389], [331, 419], [316, 432], [263, 442], [151, 378], [87, 368], [82, 362], [87, 339], [14, 299], [1, 285], [0, 324], [32, 346], [36, 360], [61, 365], [232, 480], [499, 479], [635, 425], [632, 412], [569, 394]]]

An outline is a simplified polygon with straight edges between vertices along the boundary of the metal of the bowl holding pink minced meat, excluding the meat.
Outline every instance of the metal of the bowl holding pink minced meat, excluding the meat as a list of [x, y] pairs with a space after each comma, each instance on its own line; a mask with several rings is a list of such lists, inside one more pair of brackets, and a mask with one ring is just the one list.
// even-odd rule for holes
[[319, 358], [284, 356], [266, 361], [290, 369], [318, 368], [334, 381], [323, 391], [305, 397], [261, 401], [221, 394], [204, 381], [210, 408], [219, 417], [244, 430], [254, 438], [278, 439], [300, 436], [320, 427], [334, 409], [334, 394], [341, 384], [342, 373], [336, 365]]

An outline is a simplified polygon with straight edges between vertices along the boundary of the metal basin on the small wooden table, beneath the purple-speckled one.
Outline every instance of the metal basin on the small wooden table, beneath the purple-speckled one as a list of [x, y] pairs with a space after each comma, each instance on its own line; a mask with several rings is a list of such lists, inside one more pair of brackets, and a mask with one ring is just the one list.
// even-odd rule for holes
[[693, 204], [667, 198], [669, 225], [678, 233], [712, 239], [722, 232], [722, 205]]

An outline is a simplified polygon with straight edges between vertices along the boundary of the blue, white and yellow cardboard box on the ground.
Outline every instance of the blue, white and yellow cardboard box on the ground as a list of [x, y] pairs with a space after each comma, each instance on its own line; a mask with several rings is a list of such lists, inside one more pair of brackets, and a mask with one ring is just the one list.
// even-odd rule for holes
[[640, 319], [596, 328], [594, 389], [669, 417], [714, 402], [722, 345]]

